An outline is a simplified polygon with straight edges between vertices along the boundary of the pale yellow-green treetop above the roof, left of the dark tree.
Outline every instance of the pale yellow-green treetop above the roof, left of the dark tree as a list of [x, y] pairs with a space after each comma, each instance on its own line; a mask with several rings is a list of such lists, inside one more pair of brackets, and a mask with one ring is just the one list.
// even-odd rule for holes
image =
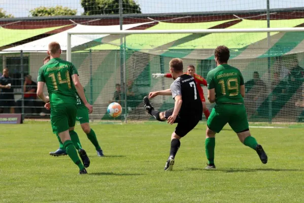
[[37, 16], [75, 16], [77, 9], [70, 9], [67, 7], [38, 7], [29, 11], [33, 17]]

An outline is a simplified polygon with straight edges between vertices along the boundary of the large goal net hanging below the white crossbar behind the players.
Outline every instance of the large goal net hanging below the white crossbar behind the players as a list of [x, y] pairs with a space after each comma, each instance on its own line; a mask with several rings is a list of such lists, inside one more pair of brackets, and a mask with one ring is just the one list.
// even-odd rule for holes
[[[170, 88], [173, 80], [155, 79], [152, 74], [168, 73], [169, 61], [179, 57], [183, 59], [185, 72], [191, 64], [196, 74], [206, 78], [216, 67], [214, 49], [225, 45], [230, 49], [228, 63], [237, 67], [245, 79], [244, 100], [249, 121], [303, 121], [304, 29], [288, 27], [300, 27], [304, 19], [273, 21], [271, 27], [276, 29], [268, 34], [263, 29], [266, 27], [263, 20], [202, 22], [199, 27], [205, 31], [191, 31], [191, 27], [186, 27], [187, 30], [176, 30], [176, 33], [175, 30], [157, 32], [158, 26], [172, 27], [172, 23], [152, 23], [149, 29], [124, 31], [121, 35], [118, 32], [71, 33], [67, 57], [71, 53], [86, 96], [93, 104], [91, 119], [112, 120], [107, 107], [114, 101], [123, 109], [116, 120], [153, 119], [145, 112], [143, 97], [151, 91]], [[224, 29], [210, 29], [223, 23], [226, 23]], [[257, 29], [239, 32], [244, 23]], [[257, 32], [259, 28], [262, 30]], [[153, 30], [155, 33], [150, 33]], [[73, 47], [77, 39], [89, 42]], [[207, 87], [202, 88], [207, 99]], [[174, 107], [171, 96], [157, 96], [151, 103], [159, 111]], [[210, 111], [214, 107], [208, 99], [206, 105]], [[203, 118], [206, 120], [204, 114]]]

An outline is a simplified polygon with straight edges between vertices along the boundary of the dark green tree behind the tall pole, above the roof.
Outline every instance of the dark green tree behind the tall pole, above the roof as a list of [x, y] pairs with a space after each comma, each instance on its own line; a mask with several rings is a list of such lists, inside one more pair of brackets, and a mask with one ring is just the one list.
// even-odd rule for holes
[[[81, 0], [83, 15], [119, 14], [119, 0]], [[122, 0], [122, 13], [142, 13], [134, 0]]]

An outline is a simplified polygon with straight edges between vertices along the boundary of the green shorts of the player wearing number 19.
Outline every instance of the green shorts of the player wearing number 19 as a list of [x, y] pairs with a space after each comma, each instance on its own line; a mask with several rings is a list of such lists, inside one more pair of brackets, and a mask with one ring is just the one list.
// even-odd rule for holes
[[208, 118], [208, 128], [220, 132], [226, 124], [229, 124], [234, 132], [242, 132], [249, 128], [247, 114], [244, 105], [216, 105]]

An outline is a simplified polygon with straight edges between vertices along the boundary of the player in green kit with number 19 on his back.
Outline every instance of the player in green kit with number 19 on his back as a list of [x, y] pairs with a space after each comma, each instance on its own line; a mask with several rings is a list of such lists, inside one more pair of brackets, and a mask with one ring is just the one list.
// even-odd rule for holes
[[206, 169], [215, 168], [215, 134], [219, 133], [227, 123], [237, 133], [240, 141], [254, 149], [262, 163], [265, 164], [267, 163], [267, 155], [249, 131], [243, 100], [245, 96], [243, 76], [239, 69], [227, 64], [230, 57], [227, 47], [217, 47], [214, 55], [218, 66], [207, 75], [208, 99], [210, 103], [215, 102], [216, 105], [207, 121], [206, 155], [208, 165]]

